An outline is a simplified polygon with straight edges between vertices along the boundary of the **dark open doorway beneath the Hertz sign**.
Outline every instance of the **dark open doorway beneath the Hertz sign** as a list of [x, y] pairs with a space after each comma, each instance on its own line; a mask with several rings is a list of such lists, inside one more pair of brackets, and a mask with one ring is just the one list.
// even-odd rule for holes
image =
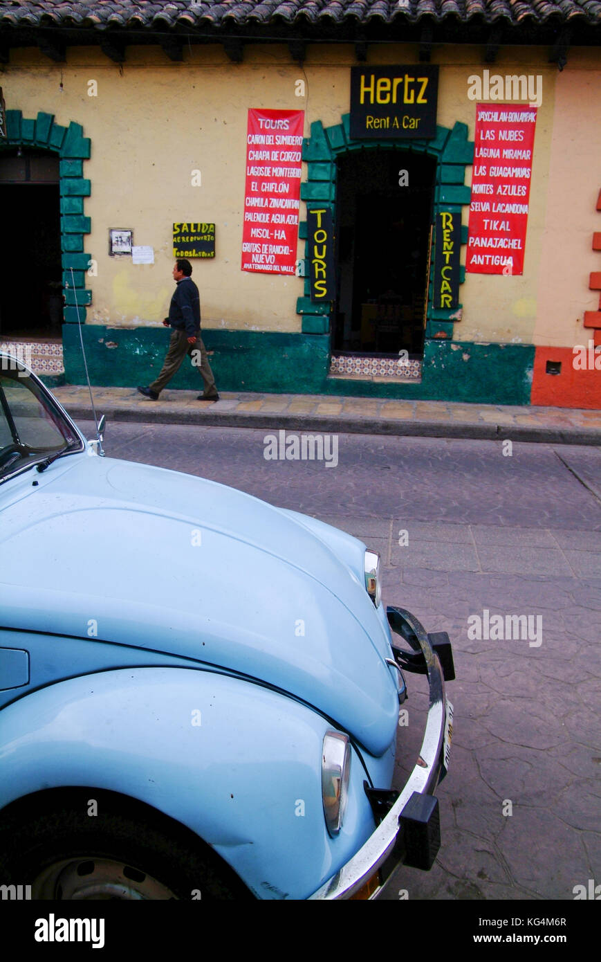
[[423, 353], [435, 176], [422, 152], [339, 158], [335, 351]]

